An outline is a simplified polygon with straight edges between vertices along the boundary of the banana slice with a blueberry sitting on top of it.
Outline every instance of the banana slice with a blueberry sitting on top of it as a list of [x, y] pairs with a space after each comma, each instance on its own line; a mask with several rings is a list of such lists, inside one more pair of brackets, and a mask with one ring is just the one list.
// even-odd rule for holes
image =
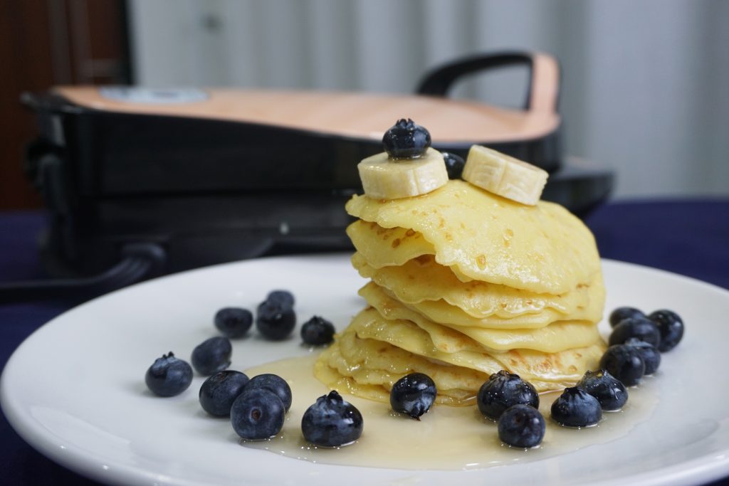
[[448, 182], [443, 155], [429, 148], [416, 159], [390, 159], [386, 152], [357, 165], [364, 194], [374, 199], [400, 199], [427, 194]]

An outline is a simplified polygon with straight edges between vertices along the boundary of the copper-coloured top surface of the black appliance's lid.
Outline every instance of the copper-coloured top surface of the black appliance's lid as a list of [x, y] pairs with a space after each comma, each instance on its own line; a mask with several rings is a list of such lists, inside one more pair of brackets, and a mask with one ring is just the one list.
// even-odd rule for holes
[[89, 109], [194, 117], [294, 128], [331, 136], [378, 140], [399, 118], [412, 118], [434, 145], [503, 143], [543, 138], [558, 129], [559, 74], [550, 56], [534, 55], [529, 107], [506, 109], [425, 95], [330, 91], [206, 89], [189, 103], [129, 103], [105, 98], [97, 87], [56, 87], [54, 93]]

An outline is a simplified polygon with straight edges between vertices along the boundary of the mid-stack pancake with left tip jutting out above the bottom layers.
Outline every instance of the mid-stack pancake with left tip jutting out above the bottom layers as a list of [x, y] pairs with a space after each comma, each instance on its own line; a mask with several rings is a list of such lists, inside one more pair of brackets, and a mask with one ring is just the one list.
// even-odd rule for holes
[[477, 350], [499, 353], [510, 349], [532, 349], [553, 353], [582, 348], [601, 342], [600, 333], [590, 321], [556, 321], [539, 329], [480, 329], [437, 324], [387, 296], [374, 283], [362, 287], [359, 294], [389, 320], [407, 320], [431, 335], [435, 348], [447, 353]]

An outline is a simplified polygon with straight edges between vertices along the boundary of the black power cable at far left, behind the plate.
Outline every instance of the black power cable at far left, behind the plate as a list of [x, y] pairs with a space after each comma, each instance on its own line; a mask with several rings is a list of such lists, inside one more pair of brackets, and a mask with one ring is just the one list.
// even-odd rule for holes
[[165, 258], [162, 248], [147, 243], [130, 245], [122, 254], [119, 263], [93, 277], [0, 283], [0, 304], [106, 294], [148, 277]]

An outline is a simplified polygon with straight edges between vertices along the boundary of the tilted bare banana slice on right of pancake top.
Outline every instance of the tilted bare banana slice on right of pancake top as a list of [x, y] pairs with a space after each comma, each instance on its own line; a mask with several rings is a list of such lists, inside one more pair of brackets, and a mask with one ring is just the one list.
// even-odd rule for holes
[[480, 145], [471, 146], [463, 169], [464, 181], [526, 205], [537, 204], [547, 176], [534, 165]]

